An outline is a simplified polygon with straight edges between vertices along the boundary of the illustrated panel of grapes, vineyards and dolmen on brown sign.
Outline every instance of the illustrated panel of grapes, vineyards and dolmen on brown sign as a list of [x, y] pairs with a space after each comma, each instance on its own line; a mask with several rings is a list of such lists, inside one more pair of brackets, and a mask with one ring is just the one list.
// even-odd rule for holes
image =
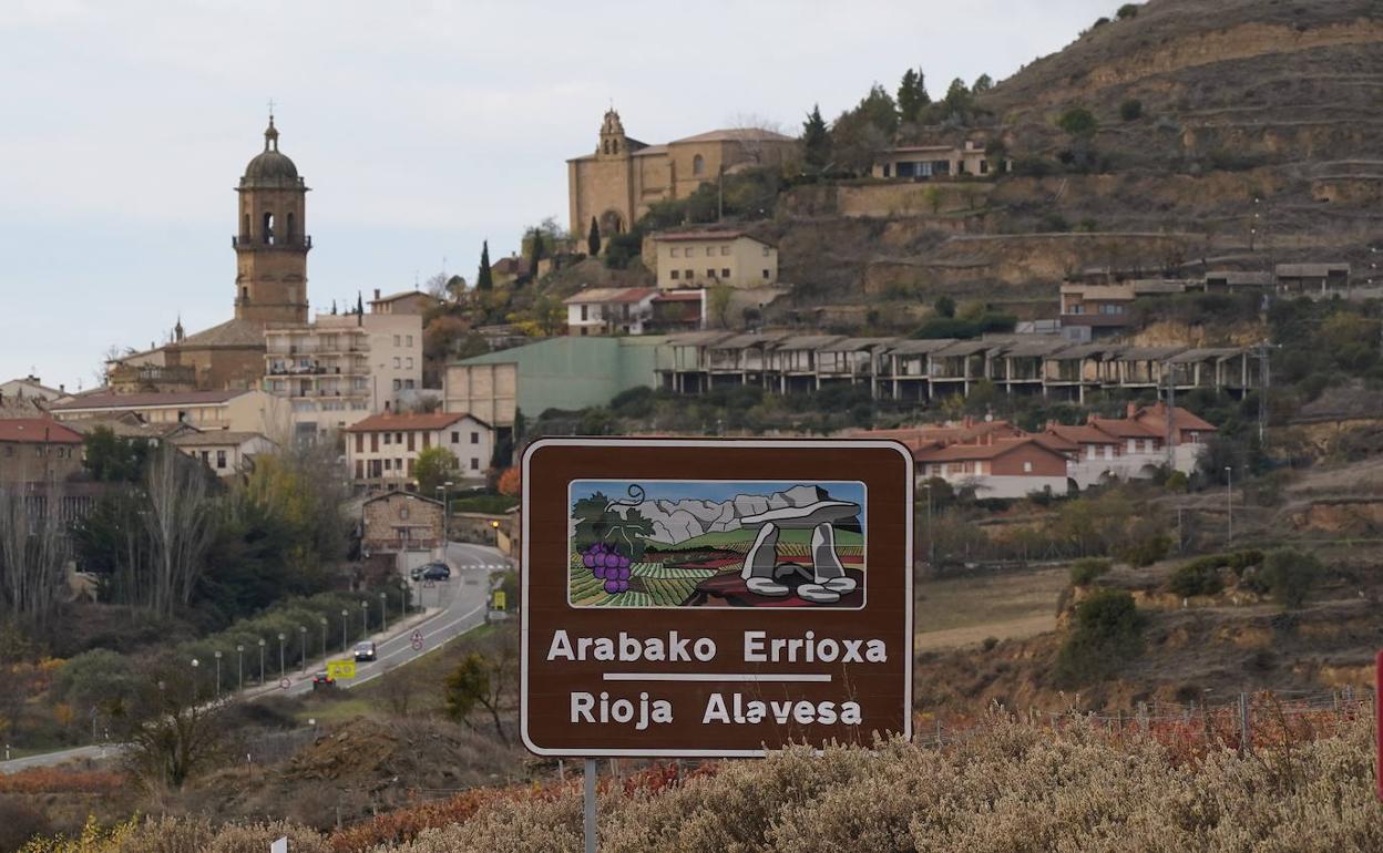
[[578, 480], [568, 494], [573, 607], [864, 604], [862, 482]]

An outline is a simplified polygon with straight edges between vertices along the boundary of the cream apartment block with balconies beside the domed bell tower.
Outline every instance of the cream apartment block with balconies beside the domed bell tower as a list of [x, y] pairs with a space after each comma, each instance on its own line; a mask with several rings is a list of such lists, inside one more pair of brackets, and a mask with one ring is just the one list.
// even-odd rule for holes
[[396, 412], [423, 384], [418, 314], [318, 314], [264, 330], [264, 390], [290, 401], [297, 435], [318, 435]]

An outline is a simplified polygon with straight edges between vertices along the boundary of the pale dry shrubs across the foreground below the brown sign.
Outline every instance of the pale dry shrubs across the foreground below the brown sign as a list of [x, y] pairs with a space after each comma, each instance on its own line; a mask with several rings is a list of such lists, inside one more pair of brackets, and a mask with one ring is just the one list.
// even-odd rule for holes
[[[602, 798], [606, 853], [870, 850], [1366, 852], [1383, 849], [1372, 726], [1239, 758], [1182, 760], [1155, 737], [996, 722], [946, 749], [787, 749], [662, 794]], [[581, 800], [501, 800], [373, 853], [581, 849]]]

